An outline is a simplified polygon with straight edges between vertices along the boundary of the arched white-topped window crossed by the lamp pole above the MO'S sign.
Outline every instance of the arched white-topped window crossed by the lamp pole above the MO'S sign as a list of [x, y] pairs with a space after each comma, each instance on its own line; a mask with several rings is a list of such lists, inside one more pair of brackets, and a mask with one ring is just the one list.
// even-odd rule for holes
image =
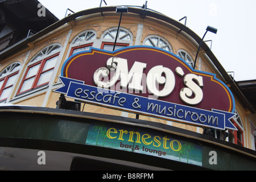
[[[110, 28], [103, 32], [101, 36], [102, 44], [101, 49], [104, 49], [106, 51], [113, 51], [114, 48], [114, 42], [115, 37], [117, 36], [117, 27]], [[126, 28], [119, 28], [119, 34], [117, 37], [117, 43], [115, 44], [115, 50], [127, 47], [127, 46], [133, 46], [133, 34]]]

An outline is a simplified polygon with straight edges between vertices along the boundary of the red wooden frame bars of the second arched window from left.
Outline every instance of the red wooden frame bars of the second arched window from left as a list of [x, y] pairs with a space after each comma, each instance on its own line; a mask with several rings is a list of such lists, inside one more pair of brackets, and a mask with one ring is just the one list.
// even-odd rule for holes
[[[44, 85], [49, 84], [49, 81], [48, 81], [48, 82], [45, 82], [45, 83], [43, 83], [43, 84], [41, 84], [41, 85], [37, 85], [37, 84], [38, 84], [38, 81], [39, 81], [39, 78], [41, 77], [41, 75], [42, 75], [43, 73], [46, 73], [46, 72], [51, 71], [51, 70], [54, 70], [54, 68], [55, 68], [55, 66], [54, 66], [54, 67], [52, 67], [52, 68], [49, 68], [49, 69], [43, 71], [43, 67], [45, 67], [46, 61], [52, 59], [53, 57], [57, 57], [57, 59], [58, 59], [59, 53], [60, 53], [60, 52], [54, 53], [53, 55], [50, 55], [50, 56], [46, 56], [46, 57], [44, 57], [42, 60], [35, 61], [35, 63], [32, 62], [33, 64], [27, 66], [25, 75], [23, 76], [22, 81], [21, 81], [21, 84], [19, 85], [19, 89], [18, 89], [18, 92], [17, 92], [17, 96], [18, 96], [19, 94], [23, 94], [23, 93], [26, 93], [26, 92], [30, 92], [30, 90], [34, 90], [34, 89], [36, 89], [36, 88], [39, 88], [39, 87], [41, 87], [41, 86], [44, 86]], [[26, 78], [27, 73], [29, 72], [29, 69], [35, 67], [35, 66], [38, 65], [38, 64], [39, 64], [39, 68], [38, 68], [37, 73], [36, 73], [34, 76], [31, 76], [31, 77]], [[29, 79], [33, 78], [33, 77], [35, 77], [35, 78], [34, 78], [33, 84], [31, 85], [31, 88], [21, 91], [24, 82], [25, 82], [26, 80], [29, 80]]]

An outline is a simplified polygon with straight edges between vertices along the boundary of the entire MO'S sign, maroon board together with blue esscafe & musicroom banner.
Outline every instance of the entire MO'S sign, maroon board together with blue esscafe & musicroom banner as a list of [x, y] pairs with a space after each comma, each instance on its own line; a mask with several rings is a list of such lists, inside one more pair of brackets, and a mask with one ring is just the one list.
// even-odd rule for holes
[[55, 92], [116, 109], [214, 129], [236, 130], [234, 97], [214, 74], [162, 49], [91, 48], [69, 57]]

